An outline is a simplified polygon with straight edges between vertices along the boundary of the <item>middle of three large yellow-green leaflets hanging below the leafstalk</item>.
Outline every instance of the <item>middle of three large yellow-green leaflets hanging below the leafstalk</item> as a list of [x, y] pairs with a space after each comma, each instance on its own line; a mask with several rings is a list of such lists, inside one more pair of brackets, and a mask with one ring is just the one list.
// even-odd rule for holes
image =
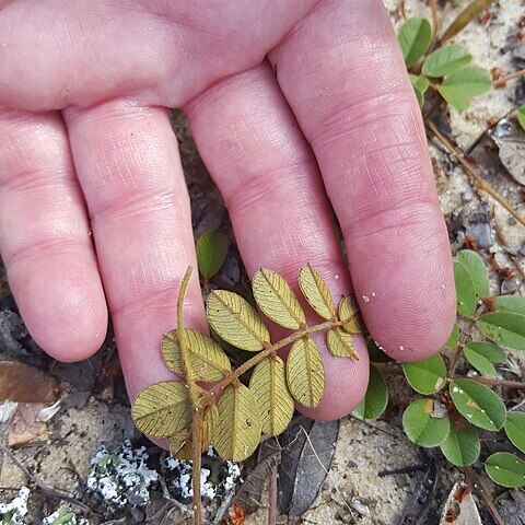
[[288, 390], [284, 363], [281, 358], [268, 358], [254, 369], [249, 380], [259, 407], [265, 434], [283, 432], [293, 417], [293, 398]]

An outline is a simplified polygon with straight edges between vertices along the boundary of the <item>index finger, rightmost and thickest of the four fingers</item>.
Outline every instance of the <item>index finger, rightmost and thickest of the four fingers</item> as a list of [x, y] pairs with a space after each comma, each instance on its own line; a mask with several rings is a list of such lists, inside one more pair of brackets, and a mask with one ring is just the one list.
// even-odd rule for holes
[[383, 4], [319, 3], [270, 57], [319, 163], [366, 326], [396, 359], [428, 357], [455, 317], [451, 253]]

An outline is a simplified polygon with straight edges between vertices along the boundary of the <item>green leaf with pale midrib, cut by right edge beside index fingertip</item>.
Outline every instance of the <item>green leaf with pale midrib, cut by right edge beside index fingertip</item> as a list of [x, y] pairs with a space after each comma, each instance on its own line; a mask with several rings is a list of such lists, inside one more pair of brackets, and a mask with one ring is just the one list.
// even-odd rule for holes
[[504, 347], [525, 350], [525, 315], [514, 312], [492, 312], [482, 315], [477, 327], [489, 339]]

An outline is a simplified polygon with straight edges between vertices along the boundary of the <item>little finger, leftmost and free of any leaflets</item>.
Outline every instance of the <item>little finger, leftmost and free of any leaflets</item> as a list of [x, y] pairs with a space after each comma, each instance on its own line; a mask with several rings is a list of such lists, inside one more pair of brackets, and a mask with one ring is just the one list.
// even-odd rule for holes
[[102, 346], [107, 307], [59, 115], [0, 108], [0, 252], [35, 341], [61, 361]]

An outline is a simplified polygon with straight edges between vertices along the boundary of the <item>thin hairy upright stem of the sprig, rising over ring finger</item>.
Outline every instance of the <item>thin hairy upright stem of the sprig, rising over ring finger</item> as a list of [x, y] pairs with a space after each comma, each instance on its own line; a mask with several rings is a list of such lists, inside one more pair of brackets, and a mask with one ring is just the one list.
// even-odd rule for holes
[[192, 268], [188, 266], [180, 284], [180, 292], [177, 301], [177, 337], [180, 346], [180, 357], [183, 361], [184, 375], [189, 387], [189, 399], [191, 402], [191, 456], [192, 456], [192, 489], [194, 489], [194, 521], [195, 525], [202, 524], [202, 505], [200, 503], [200, 455], [202, 450], [202, 411], [198, 386], [195, 382], [195, 374], [191, 368], [189, 357], [188, 341], [184, 329], [184, 299], [188, 291], [189, 280], [191, 279]]

